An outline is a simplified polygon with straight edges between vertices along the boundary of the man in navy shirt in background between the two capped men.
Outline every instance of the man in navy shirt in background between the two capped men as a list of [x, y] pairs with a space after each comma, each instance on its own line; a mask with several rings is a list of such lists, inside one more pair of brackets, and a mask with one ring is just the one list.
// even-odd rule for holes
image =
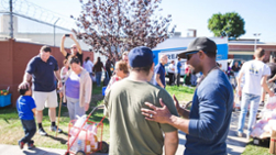
[[167, 63], [168, 63], [167, 55], [161, 55], [159, 64], [156, 65], [154, 68], [154, 75], [155, 75], [154, 85], [159, 86], [161, 88], [164, 89], [166, 87], [166, 81], [165, 81], [166, 71], [164, 65], [166, 65]]

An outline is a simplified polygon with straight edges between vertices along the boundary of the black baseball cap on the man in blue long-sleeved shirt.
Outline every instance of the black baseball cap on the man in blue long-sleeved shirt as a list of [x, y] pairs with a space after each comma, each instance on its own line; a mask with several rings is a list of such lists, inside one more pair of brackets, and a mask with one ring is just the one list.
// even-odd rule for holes
[[203, 51], [205, 53], [217, 53], [217, 45], [208, 37], [197, 37], [188, 45], [187, 51], [178, 54], [177, 56], [180, 58], [186, 58], [187, 53], [198, 51]]

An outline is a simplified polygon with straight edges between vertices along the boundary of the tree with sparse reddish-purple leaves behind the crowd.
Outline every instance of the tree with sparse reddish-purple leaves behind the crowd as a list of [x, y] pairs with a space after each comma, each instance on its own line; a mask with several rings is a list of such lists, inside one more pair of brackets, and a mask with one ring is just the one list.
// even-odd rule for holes
[[[162, 16], [162, 0], [80, 0], [82, 11], [73, 30], [79, 40], [104, 56], [121, 57], [136, 46], [154, 48], [174, 34], [172, 15]], [[170, 30], [169, 30], [170, 29]]]

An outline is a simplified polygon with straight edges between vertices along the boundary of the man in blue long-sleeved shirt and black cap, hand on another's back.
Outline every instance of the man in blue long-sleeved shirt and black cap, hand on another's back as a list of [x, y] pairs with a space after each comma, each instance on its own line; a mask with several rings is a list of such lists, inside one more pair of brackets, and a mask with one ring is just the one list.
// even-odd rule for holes
[[190, 111], [179, 107], [174, 96], [178, 114], [184, 119], [173, 115], [163, 103], [162, 108], [145, 103], [153, 110], [142, 109], [142, 114], [146, 120], [184, 131], [187, 137], [185, 155], [225, 155], [233, 89], [225, 74], [217, 67], [217, 45], [207, 37], [197, 37], [178, 56], [187, 58], [194, 74], [202, 71], [205, 76], [195, 91]]

